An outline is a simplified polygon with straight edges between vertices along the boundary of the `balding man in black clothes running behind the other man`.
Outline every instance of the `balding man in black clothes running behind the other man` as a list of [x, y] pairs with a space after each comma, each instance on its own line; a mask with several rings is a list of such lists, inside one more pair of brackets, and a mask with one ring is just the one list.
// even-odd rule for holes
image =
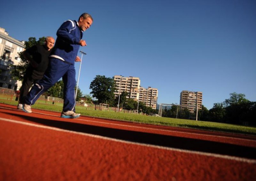
[[17, 109], [22, 110], [24, 98], [28, 94], [32, 83], [43, 78], [49, 63], [48, 57], [52, 51], [51, 49], [54, 43], [54, 38], [48, 36], [45, 38], [44, 45], [34, 45], [23, 52], [23, 55], [29, 61], [29, 66], [20, 88], [20, 100]]

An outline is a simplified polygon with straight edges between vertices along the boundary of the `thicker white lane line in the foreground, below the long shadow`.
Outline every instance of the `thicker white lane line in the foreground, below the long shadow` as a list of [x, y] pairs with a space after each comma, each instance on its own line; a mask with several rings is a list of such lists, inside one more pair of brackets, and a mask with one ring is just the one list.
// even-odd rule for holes
[[12, 123], [17, 123], [17, 124], [22, 124], [22, 125], [26, 125], [26, 126], [50, 129], [50, 130], [54, 130], [54, 131], [60, 131], [60, 132], [66, 132], [66, 133], [72, 133], [72, 134], [79, 134], [79, 135], [89, 136], [89, 137], [92, 137], [92, 138], [98, 138], [98, 139], [103, 139], [103, 140], [121, 142], [121, 143], [126, 143], [126, 144], [146, 146], [146, 147], [150, 147], [150, 148], [158, 148], [158, 149], [177, 151], [177, 152], [189, 153], [189, 154], [197, 154], [197, 155], [203, 155], [203, 156], [212, 156], [212, 157], [216, 157], [216, 158], [223, 158], [223, 159], [228, 159], [228, 160], [235, 160], [235, 161], [238, 161], [238, 162], [246, 162], [246, 163], [256, 164], [256, 160], [254, 160], [254, 159], [247, 159], [247, 158], [241, 158], [241, 157], [236, 157], [236, 156], [220, 155], [220, 154], [206, 153], [206, 152], [199, 152], [199, 151], [190, 151], [190, 150], [178, 149], [178, 148], [168, 148], [168, 147], [150, 145], [150, 144], [145, 144], [145, 143], [136, 143], [136, 142], [132, 142], [132, 141], [124, 141], [124, 140], [119, 140], [119, 139], [115, 139], [115, 138], [99, 136], [99, 135], [95, 135], [95, 134], [81, 133], [81, 132], [76, 132], [76, 131], [69, 131], [69, 130], [65, 130], [65, 129], [60, 129], [60, 128], [56, 128], [56, 127], [49, 127], [49, 126], [37, 125], [37, 124], [32, 124], [32, 123], [27, 123], [27, 122], [21, 122], [21, 121], [16, 121], [16, 120], [12, 120], [12, 119], [0, 118], [0, 120], [7, 121], [7, 122], [12, 122]]

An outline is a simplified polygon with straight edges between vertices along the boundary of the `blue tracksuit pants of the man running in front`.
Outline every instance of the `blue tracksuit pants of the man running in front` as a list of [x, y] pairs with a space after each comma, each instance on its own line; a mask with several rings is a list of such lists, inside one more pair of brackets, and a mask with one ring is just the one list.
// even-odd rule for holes
[[63, 111], [75, 112], [75, 87], [76, 87], [76, 70], [74, 64], [69, 64], [57, 58], [49, 59], [49, 67], [44, 74], [42, 80], [37, 81], [31, 88], [28, 96], [25, 98], [25, 103], [34, 105], [36, 100], [42, 93], [51, 88], [60, 80], [64, 82], [64, 105]]

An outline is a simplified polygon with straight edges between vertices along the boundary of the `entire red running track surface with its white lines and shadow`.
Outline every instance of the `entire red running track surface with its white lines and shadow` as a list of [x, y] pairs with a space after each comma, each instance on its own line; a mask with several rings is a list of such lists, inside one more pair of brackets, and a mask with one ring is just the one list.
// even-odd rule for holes
[[256, 136], [0, 104], [0, 180], [255, 180]]

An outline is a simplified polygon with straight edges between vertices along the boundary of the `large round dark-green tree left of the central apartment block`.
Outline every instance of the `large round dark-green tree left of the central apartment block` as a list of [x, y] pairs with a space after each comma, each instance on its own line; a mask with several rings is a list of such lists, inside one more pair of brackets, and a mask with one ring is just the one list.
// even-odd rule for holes
[[99, 103], [106, 103], [107, 101], [113, 104], [116, 89], [114, 78], [97, 75], [91, 82], [90, 89], [92, 90], [90, 94], [93, 98], [97, 98]]

